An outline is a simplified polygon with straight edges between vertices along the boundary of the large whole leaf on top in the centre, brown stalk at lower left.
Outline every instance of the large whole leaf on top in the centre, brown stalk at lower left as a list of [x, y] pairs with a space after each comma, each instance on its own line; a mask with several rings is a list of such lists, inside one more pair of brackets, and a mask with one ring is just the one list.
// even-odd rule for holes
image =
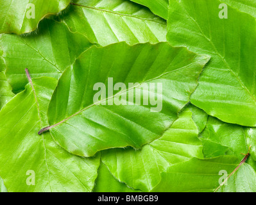
[[209, 56], [168, 43], [94, 46], [58, 81], [47, 114], [50, 126], [39, 134], [50, 130], [79, 156], [113, 147], [139, 149], [171, 126], [207, 61]]

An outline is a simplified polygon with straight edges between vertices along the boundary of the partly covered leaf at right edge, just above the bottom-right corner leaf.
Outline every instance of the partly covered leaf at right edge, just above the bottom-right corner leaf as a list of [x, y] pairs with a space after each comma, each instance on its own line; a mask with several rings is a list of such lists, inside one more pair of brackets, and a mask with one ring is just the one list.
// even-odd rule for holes
[[250, 147], [250, 158], [247, 163], [256, 169], [253, 161], [256, 158], [255, 138], [255, 127], [228, 124], [214, 117], [209, 117], [207, 126], [200, 135], [205, 158], [227, 154], [242, 160], [244, 155], [241, 153], [248, 152]]

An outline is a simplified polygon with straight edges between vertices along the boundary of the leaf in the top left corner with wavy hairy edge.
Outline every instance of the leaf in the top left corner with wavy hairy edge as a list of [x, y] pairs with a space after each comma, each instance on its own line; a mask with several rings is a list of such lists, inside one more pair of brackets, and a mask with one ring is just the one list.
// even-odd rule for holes
[[70, 0], [30, 0], [0, 2], [0, 33], [29, 33], [46, 15], [64, 10]]

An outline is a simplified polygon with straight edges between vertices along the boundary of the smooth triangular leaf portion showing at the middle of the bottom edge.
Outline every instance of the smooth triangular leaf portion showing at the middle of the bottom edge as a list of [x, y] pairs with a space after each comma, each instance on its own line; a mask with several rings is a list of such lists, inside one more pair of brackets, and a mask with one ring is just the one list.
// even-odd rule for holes
[[141, 192], [128, 187], [118, 181], [108, 170], [107, 166], [101, 162], [98, 169], [98, 177], [95, 182], [93, 192]]

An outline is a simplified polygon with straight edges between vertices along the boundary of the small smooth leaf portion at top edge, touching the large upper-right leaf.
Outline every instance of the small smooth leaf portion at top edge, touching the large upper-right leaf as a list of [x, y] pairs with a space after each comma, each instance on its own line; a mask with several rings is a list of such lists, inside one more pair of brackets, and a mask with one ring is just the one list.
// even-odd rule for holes
[[168, 0], [131, 0], [135, 3], [147, 6], [153, 13], [167, 19], [168, 17]]

